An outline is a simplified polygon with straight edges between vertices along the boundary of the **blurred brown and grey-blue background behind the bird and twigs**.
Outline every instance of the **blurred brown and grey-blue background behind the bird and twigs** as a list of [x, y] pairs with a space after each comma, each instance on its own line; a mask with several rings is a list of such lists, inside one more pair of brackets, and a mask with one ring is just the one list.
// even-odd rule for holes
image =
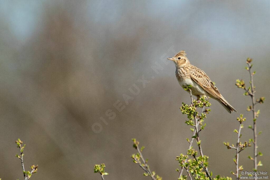
[[[253, 138], [248, 125], [250, 97], [235, 86], [248, 84], [244, 69], [253, 58], [261, 114], [260, 171], [269, 171], [269, 1], [2, 1], [0, 6], [0, 177], [22, 179], [15, 141], [26, 144], [31, 179], [150, 179], [130, 158], [131, 138], [145, 146], [152, 171], [177, 179], [176, 156], [185, 154], [192, 133], [181, 103], [190, 96], [167, 60], [185, 50], [191, 64], [215, 81], [238, 111], [229, 114], [210, 100], [201, 132], [213, 175], [235, 171], [234, 150], [240, 113], [247, 117], [241, 141]], [[194, 145], [195, 147], [196, 145]], [[244, 171], [252, 171], [240, 154]]]

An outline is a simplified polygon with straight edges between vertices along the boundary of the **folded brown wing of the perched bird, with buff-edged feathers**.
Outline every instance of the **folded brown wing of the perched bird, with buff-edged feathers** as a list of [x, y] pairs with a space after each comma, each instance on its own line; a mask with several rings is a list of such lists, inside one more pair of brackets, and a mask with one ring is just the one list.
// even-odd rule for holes
[[223, 100], [217, 87], [212, 83], [210, 78], [205, 74], [205, 72], [196, 66], [190, 67], [190, 77], [199, 84], [207, 93], [211, 94], [213, 97]]

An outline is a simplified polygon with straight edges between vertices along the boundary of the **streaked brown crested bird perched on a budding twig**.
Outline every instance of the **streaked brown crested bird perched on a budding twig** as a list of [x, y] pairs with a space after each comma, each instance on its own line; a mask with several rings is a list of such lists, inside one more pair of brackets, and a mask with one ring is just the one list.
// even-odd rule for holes
[[237, 112], [235, 108], [233, 108], [220, 94], [217, 87], [206, 73], [200, 68], [190, 64], [185, 55], [187, 54], [182, 50], [174, 57], [167, 58], [175, 63], [175, 75], [180, 86], [187, 87], [191, 85], [191, 93], [198, 99], [200, 99], [200, 96], [205, 95], [217, 100], [228, 111], [228, 113], [231, 113], [232, 111]]

